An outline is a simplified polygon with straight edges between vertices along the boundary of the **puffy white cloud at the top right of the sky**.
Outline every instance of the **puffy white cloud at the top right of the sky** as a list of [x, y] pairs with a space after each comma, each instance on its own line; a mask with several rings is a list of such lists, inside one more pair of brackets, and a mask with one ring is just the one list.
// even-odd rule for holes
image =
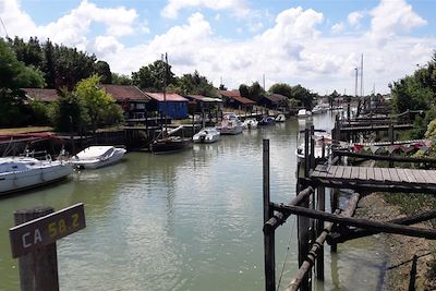
[[405, 0], [382, 0], [370, 14], [373, 16], [370, 35], [379, 45], [386, 44], [397, 34], [409, 33], [427, 24]]

